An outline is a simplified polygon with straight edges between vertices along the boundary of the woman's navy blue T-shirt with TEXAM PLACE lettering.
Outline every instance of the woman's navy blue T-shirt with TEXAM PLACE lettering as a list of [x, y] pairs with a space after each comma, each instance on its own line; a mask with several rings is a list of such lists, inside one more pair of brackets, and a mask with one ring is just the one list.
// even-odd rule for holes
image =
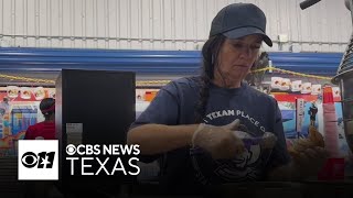
[[[200, 79], [200, 77], [185, 77], [162, 87], [131, 128], [147, 123], [167, 125], [195, 123]], [[221, 167], [218, 162], [213, 165], [207, 164], [205, 161], [207, 157], [195, 157], [190, 146], [181, 147], [165, 154], [149, 156], [150, 160], [162, 157], [161, 183], [210, 184], [207, 180], [210, 175], [204, 174], [205, 172], [214, 172], [216, 176], [224, 178], [222, 182], [261, 180], [267, 170], [289, 162], [281, 113], [272, 97], [252, 88], [246, 82], [242, 82], [239, 88], [231, 89], [211, 85], [204, 123], [225, 125], [235, 119], [239, 119], [255, 136], [265, 132], [272, 132], [277, 136], [276, 146], [268, 157], [261, 157], [259, 148], [252, 147], [244, 156], [233, 161], [232, 167], [224, 164]]]

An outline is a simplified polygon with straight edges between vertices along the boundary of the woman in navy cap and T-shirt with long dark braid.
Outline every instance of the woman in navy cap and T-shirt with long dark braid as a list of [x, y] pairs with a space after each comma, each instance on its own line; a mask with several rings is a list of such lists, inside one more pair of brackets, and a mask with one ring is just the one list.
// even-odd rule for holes
[[[161, 160], [161, 184], [193, 189], [200, 184], [293, 179], [308, 174], [299, 172], [310, 169], [308, 158], [318, 162], [312, 169], [321, 165], [322, 148], [308, 148], [303, 161], [290, 161], [277, 101], [243, 81], [261, 43], [272, 45], [265, 30], [266, 16], [256, 6], [223, 8], [202, 48], [203, 74], [162, 87], [131, 125], [128, 143], [140, 145], [146, 162]], [[246, 145], [233, 131], [252, 138], [270, 132], [277, 141], [266, 152]]]

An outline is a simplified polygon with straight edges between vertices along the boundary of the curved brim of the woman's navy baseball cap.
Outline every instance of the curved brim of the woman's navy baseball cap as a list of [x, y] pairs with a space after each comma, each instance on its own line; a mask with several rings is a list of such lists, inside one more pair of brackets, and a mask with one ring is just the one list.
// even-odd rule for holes
[[234, 29], [231, 31], [227, 31], [225, 33], [223, 33], [223, 35], [225, 35], [228, 38], [239, 38], [243, 36], [247, 36], [247, 35], [252, 35], [252, 34], [260, 34], [263, 36], [264, 42], [268, 45], [268, 46], [272, 46], [272, 41], [271, 38], [269, 38], [264, 31], [254, 28], [254, 26], [247, 26], [247, 28], [239, 28], [239, 29]]

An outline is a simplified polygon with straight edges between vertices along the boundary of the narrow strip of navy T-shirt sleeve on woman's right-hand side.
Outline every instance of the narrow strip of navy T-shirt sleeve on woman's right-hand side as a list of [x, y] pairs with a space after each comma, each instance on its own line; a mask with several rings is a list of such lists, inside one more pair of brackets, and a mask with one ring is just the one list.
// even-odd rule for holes
[[272, 153], [269, 160], [269, 164], [268, 164], [269, 170], [274, 169], [275, 167], [286, 165], [290, 162], [290, 156], [287, 150], [281, 112], [279, 110], [277, 101], [275, 107], [276, 107], [276, 114], [275, 114], [274, 133], [277, 135], [277, 143], [272, 150]]

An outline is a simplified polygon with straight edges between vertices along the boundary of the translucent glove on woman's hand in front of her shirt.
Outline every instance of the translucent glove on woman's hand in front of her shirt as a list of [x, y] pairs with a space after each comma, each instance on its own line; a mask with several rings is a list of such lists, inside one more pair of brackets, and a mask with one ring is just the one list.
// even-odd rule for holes
[[238, 119], [222, 127], [201, 123], [192, 136], [192, 144], [210, 152], [214, 160], [234, 158], [245, 151], [243, 141], [233, 132], [239, 124]]

